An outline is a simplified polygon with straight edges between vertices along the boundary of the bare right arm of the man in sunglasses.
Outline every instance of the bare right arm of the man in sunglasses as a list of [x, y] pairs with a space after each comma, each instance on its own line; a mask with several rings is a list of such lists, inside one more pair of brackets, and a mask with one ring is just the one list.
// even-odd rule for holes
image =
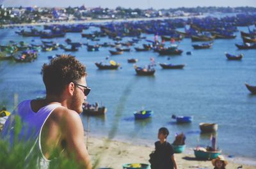
[[84, 144], [84, 129], [81, 118], [77, 112], [72, 110], [67, 110], [67, 115], [64, 118], [63, 133], [67, 142], [67, 152], [74, 153], [77, 162], [83, 165], [83, 168], [92, 169], [90, 156]]

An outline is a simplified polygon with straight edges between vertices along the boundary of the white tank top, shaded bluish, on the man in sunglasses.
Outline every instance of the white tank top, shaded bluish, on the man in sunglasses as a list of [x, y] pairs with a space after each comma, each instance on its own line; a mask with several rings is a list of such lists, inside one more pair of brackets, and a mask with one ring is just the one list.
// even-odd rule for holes
[[10, 138], [10, 143], [11, 145], [13, 145], [13, 129], [15, 126], [13, 120], [15, 115], [19, 115], [22, 122], [22, 129], [20, 131], [19, 138], [22, 138], [23, 140], [25, 140], [25, 142], [28, 142], [28, 140], [29, 142], [32, 142], [31, 151], [26, 159], [29, 160], [29, 156], [31, 156], [31, 154], [35, 152], [37, 154], [40, 154], [37, 159], [38, 168], [49, 168], [50, 160], [45, 158], [41, 149], [41, 131], [49, 115], [51, 115], [55, 108], [60, 106], [60, 104], [51, 104], [40, 108], [38, 112], [33, 112], [33, 110], [31, 109], [31, 100], [22, 101], [18, 105], [17, 110], [15, 110], [8, 117], [6, 123], [4, 124], [3, 131], [1, 132], [1, 138]]

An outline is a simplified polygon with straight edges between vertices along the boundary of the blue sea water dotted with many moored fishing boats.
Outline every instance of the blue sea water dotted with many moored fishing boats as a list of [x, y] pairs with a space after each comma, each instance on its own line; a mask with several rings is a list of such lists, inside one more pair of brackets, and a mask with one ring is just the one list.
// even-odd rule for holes
[[[42, 27], [38, 27], [42, 29]], [[14, 33], [16, 29], [1, 29], [0, 43], [8, 41], [40, 41], [40, 38], [22, 38]], [[91, 27], [88, 31], [95, 31]], [[239, 27], [247, 31], [247, 27]], [[87, 31], [87, 32], [88, 32]], [[181, 31], [184, 31], [181, 29]], [[182, 55], [159, 56], [154, 52], [131, 52], [110, 56], [121, 64], [119, 70], [97, 70], [94, 62], [104, 61], [111, 48], [100, 48], [99, 52], [87, 52], [86, 47], [78, 52], [63, 52], [59, 49], [40, 52], [38, 59], [31, 63], [0, 62], [0, 101], [9, 109], [13, 108], [13, 95], [19, 101], [44, 96], [45, 89], [40, 70], [47, 56], [73, 54], [86, 65], [87, 83], [92, 87], [88, 96], [90, 103], [103, 103], [108, 108], [105, 116], [90, 117], [90, 133], [99, 136], [113, 136], [134, 143], [156, 141], [157, 130], [165, 126], [170, 130], [168, 140], [172, 142], [175, 133], [186, 134], [188, 147], [210, 145], [210, 135], [200, 133], [200, 122], [217, 122], [218, 147], [224, 154], [255, 159], [256, 156], [256, 96], [250, 94], [244, 82], [256, 85], [256, 50], [237, 50], [235, 43], [241, 43], [239, 32], [234, 40], [214, 40], [211, 49], [193, 50], [190, 39], [180, 42]], [[143, 34], [148, 40], [153, 35]], [[67, 33], [65, 38], [86, 43], [79, 33]], [[65, 38], [55, 39], [65, 43]], [[131, 40], [124, 38], [123, 41]], [[109, 42], [101, 38], [100, 43]], [[112, 41], [113, 42], [113, 41]], [[95, 42], [89, 41], [90, 44]], [[136, 44], [142, 47], [145, 40]], [[168, 45], [168, 43], [166, 44]], [[193, 52], [186, 55], [186, 52]], [[242, 61], [227, 61], [225, 52], [244, 54]], [[186, 64], [184, 70], [162, 70], [156, 67], [154, 77], [138, 77], [129, 58], [139, 59], [138, 66], [145, 66], [154, 57], [156, 63], [171, 62]], [[134, 121], [133, 112], [145, 108], [153, 110], [154, 116], [145, 121]], [[172, 115], [193, 115], [191, 124], [176, 124]], [[81, 116], [87, 127], [86, 116]]]

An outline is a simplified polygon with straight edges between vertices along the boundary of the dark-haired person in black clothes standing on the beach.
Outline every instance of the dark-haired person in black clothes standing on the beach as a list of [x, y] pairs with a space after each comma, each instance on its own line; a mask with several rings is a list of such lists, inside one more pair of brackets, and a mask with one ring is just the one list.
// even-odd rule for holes
[[158, 131], [158, 139], [155, 143], [156, 150], [154, 152], [154, 165], [152, 169], [178, 169], [174, 158], [172, 145], [166, 141], [169, 131], [167, 128], [160, 128]]

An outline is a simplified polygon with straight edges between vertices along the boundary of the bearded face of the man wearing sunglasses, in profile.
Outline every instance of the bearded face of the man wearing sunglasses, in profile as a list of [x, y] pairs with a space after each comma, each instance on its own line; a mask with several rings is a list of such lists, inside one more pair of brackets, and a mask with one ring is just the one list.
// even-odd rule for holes
[[[87, 86], [85, 77], [81, 78], [77, 84]], [[77, 113], [81, 114], [83, 112], [83, 103], [86, 100], [86, 96], [84, 96], [84, 87], [79, 85], [75, 86], [74, 95], [72, 97], [71, 109], [75, 110]]]

